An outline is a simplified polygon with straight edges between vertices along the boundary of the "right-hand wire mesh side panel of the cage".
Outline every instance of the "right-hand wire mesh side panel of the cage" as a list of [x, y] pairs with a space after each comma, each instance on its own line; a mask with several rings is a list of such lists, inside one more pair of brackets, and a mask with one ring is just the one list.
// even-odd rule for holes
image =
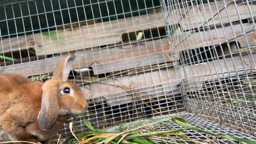
[[187, 110], [254, 135], [255, 2], [163, 2]]

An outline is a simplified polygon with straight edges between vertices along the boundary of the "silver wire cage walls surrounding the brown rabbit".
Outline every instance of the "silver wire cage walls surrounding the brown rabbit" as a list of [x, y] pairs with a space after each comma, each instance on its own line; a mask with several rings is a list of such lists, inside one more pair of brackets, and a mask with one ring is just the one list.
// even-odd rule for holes
[[222, 133], [256, 140], [255, 10], [254, 0], [1, 1], [0, 73], [44, 82], [77, 53], [68, 81], [83, 87], [89, 108], [67, 120], [63, 137], [69, 122], [86, 131], [83, 118], [105, 129], [181, 114], [221, 133], [198, 115], [217, 117]]

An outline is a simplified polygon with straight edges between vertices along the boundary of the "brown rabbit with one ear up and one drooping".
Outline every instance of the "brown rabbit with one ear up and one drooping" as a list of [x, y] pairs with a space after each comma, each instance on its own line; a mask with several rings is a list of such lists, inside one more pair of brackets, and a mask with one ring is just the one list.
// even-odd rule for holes
[[73, 114], [87, 109], [77, 86], [66, 82], [76, 55], [69, 55], [45, 83], [0, 74], [0, 141], [52, 143], [51, 137]]

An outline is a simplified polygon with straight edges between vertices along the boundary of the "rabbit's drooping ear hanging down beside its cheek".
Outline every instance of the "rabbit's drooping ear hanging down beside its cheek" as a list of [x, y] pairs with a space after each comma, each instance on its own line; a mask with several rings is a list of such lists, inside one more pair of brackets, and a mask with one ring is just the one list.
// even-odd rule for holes
[[43, 92], [41, 110], [37, 117], [39, 128], [44, 131], [52, 129], [57, 121], [58, 115], [59, 102], [57, 98], [57, 90], [46, 90]]

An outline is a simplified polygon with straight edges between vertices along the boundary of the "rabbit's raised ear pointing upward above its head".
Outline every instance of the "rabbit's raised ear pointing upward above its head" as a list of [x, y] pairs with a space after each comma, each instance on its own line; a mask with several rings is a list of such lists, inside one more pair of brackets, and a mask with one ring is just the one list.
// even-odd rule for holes
[[76, 58], [76, 54], [73, 54], [73, 55], [69, 55], [65, 59], [62, 59], [58, 67], [55, 68], [52, 78], [57, 78], [57, 79], [60, 79], [61, 81], [67, 81], [69, 72], [72, 67], [72, 63], [75, 58]]

